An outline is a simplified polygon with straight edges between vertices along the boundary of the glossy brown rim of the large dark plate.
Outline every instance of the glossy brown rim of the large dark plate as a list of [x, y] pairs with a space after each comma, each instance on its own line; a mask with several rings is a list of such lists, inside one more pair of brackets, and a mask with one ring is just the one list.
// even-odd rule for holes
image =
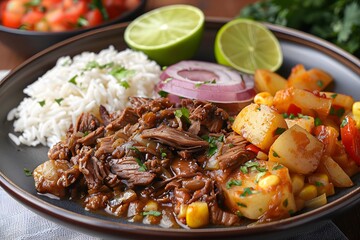
[[[206, 18], [207, 25], [216, 25], [225, 24], [226, 21], [229, 21], [228, 18]], [[28, 63], [33, 62], [36, 59], [42, 58], [43, 56], [51, 53], [52, 51], [57, 50], [63, 46], [71, 44], [72, 42], [76, 42], [78, 40], [84, 39], [91, 35], [101, 34], [102, 32], [111, 31], [113, 29], [124, 28], [128, 25], [129, 22], [119, 23], [112, 26], [107, 26], [100, 29], [95, 29], [92, 31], [88, 31], [82, 33], [80, 35], [71, 37], [67, 40], [59, 42], [37, 54], [30, 57], [22, 64], [17, 66], [14, 70], [12, 70], [2, 81], [0, 81], [0, 87], [6, 81], [11, 79], [12, 75], [16, 74], [17, 71], [20, 71], [24, 68]], [[301, 39], [301, 44], [316, 48], [321, 52], [327, 51], [332, 57], [336, 58], [336, 60], [341, 61], [343, 64], [348, 66], [352, 71], [356, 72], [360, 75], [360, 60], [354, 57], [353, 55], [345, 52], [339, 47], [317, 38], [313, 35], [282, 27], [269, 23], [264, 23], [268, 28], [274, 32], [274, 34], [280, 38], [286, 38], [289, 41], [294, 41]], [[136, 225], [136, 224], [128, 224], [128, 223], [119, 223], [107, 221], [99, 218], [89, 217], [82, 215], [80, 213], [72, 212], [70, 210], [54, 206], [42, 199], [36, 198], [29, 192], [20, 188], [16, 184], [14, 184], [10, 179], [8, 179], [2, 171], [0, 171], [0, 186], [8, 192], [13, 198], [17, 201], [35, 211], [40, 215], [46, 215], [51, 218], [53, 221], [57, 221], [62, 223], [63, 225], [68, 224], [77, 224], [79, 225], [79, 230], [85, 231], [95, 231], [101, 232], [103, 231], [111, 231], [112, 234], [125, 234], [127, 237], [139, 237], [139, 236], [153, 236], [153, 237], [200, 237], [204, 236], [204, 234], [211, 234], [214, 237], [229, 237], [229, 236], [249, 236], [258, 234], [259, 230], [262, 230], [261, 234], [269, 233], [273, 231], [281, 231], [281, 230], [289, 230], [291, 228], [299, 227], [304, 225], [305, 223], [313, 222], [315, 220], [323, 219], [325, 216], [331, 215], [335, 212], [338, 212], [340, 208], [345, 208], [346, 206], [354, 204], [354, 202], [360, 202], [360, 187], [353, 189], [349, 193], [345, 194], [339, 199], [335, 199], [334, 201], [322, 206], [320, 208], [311, 210], [309, 212], [302, 213], [300, 215], [296, 215], [290, 218], [282, 219], [275, 222], [266, 223], [264, 225], [256, 225], [251, 228], [247, 228], [246, 226], [239, 227], [230, 227], [230, 228], [204, 228], [204, 229], [166, 229], [166, 228], [154, 228], [154, 226], [147, 225]], [[356, 198], [357, 197], [357, 198]], [[44, 205], [46, 207], [44, 207]], [[42, 214], [41, 214], [42, 213]], [[85, 220], [84, 220], [85, 219]], [[70, 222], [69, 222], [70, 221]], [[99, 224], [100, 223], [100, 224]]]

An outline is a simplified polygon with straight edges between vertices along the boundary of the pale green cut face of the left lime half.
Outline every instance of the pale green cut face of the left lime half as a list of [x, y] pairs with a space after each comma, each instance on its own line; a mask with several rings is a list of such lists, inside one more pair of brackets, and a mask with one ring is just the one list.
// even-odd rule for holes
[[[188, 20], [189, 15], [196, 16], [197, 19]], [[149, 11], [135, 19], [126, 28], [124, 38], [134, 49], [153, 51], [186, 40], [203, 28], [204, 22], [204, 13], [196, 7], [184, 4], [169, 5]], [[162, 31], [166, 30], [165, 28], [171, 28], [171, 31]]]

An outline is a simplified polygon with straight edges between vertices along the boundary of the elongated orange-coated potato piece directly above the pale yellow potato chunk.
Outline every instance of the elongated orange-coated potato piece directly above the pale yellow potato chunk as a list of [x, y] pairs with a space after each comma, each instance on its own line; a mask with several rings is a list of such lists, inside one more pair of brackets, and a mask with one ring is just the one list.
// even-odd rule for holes
[[303, 115], [326, 117], [330, 112], [332, 99], [290, 87], [278, 91], [274, 96], [273, 104], [280, 113], [287, 112], [293, 104], [301, 109]]

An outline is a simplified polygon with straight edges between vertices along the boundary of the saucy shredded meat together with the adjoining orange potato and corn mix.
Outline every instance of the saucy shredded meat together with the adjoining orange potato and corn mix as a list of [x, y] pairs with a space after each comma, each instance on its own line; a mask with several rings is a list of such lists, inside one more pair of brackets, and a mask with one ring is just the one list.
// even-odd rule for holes
[[204, 100], [162, 97], [83, 113], [34, 170], [37, 191], [129, 221], [201, 228], [287, 218], [352, 186], [360, 102], [324, 92], [332, 77], [303, 65], [287, 80], [259, 69], [254, 81], [253, 102], [234, 118]]

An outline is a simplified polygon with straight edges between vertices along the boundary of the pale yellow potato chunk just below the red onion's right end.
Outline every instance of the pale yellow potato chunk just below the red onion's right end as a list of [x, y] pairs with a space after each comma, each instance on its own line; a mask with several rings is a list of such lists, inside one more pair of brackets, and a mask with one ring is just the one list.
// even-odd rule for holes
[[250, 104], [243, 108], [232, 125], [235, 132], [263, 151], [278, 137], [277, 131], [287, 129], [283, 116], [266, 105]]

